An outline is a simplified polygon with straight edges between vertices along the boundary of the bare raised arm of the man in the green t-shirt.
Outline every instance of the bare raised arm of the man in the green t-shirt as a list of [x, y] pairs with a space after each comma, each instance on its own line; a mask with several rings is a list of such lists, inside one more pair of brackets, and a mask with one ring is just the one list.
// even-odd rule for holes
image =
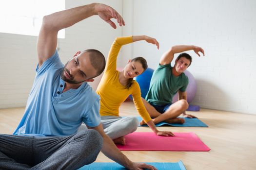
[[179, 45], [179, 46], [173, 46], [168, 51], [164, 52], [162, 57], [160, 58], [160, 65], [166, 65], [173, 61], [174, 54], [183, 52], [183, 51], [189, 51], [194, 50], [198, 56], [200, 56], [199, 51], [204, 55], [204, 51], [201, 47], [197, 46], [185, 46], [185, 45]]

